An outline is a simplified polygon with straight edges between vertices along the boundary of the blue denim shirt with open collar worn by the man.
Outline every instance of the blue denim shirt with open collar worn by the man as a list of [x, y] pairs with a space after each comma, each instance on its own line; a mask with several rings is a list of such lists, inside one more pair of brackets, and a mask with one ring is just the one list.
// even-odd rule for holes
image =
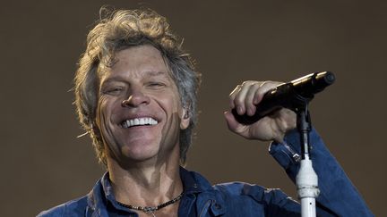
[[[339, 163], [313, 130], [310, 135], [314, 171], [319, 177], [317, 216], [374, 216]], [[269, 152], [295, 181], [299, 169], [299, 134], [288, 133], [281, 144], [271, 143]], [[178, 216], [300, 216], [300, 204], [280, 189], [262, 188], [244, 182], [211, 186], [197, 172], [180, 168], [184, 185]], [[108, 173], [99, 179], [87, 196], [60, 204], [38, 216], [138, 216], [116, 202]]]

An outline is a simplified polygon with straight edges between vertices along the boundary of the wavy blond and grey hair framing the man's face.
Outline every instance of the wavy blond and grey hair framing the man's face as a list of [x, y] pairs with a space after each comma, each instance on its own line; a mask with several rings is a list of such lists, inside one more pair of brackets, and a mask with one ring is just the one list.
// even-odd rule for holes
[[97, 25], [90, 30], [87, 48], [82, 54], [75, 74], [75, 106], [82, 128], [90, 134], [99, 163], [107, 165], [105, 147], [96, 125], [99, 101], [99, 78], [105, 67], [115, 63], [115, 54], [131, 46], [156, 47], [176, 83], [180, 100], [191, 118], [189, 127], [180, 130], [180, 163], [185, 164], [186, 153], [192, 144], [193, 128], [197, 122], [197, 92], [200, 73], [193, 67], [193, 59], [185, 54], [182, 39], [169, 29], [166, 18], [145, 10], [119, 10], [107, 12], [101, 9]]

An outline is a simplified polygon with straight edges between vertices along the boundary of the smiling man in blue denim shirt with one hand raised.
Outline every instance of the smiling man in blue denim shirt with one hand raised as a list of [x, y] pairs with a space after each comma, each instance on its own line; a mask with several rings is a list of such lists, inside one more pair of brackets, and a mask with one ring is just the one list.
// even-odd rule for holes
[[[199, 80], [157, 13], [117, 11], [99, 21], [76, 73], [75, 104], [107, 173], [87, 196], [39, 216], [299, 216], [299, 204], [280, 190], [246, 183], [211, 187], [181, 167], [196, 123]], [[263, 94], [278, 84], [245, 81], [230, 94], [230, 110], [254, 114]], [[271, 154], [294, 179], [299, 148], [293, 112], [282, 109], [252, 125], [238, 123], [230, 111], [225, 118], [236, 134], [273, 140]], [[311, 139], [322, 177], [317, 213], [372, 215], [314, 131]]]

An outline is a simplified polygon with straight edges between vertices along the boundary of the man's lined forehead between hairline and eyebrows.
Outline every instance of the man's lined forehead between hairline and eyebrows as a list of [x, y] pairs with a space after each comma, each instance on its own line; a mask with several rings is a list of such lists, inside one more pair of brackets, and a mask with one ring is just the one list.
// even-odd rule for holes
[[101, 80], [116, 76], [170, 76], [159, 50], [154, 46], [133, 46], [116, 53], [114, 64], [103, 70]]

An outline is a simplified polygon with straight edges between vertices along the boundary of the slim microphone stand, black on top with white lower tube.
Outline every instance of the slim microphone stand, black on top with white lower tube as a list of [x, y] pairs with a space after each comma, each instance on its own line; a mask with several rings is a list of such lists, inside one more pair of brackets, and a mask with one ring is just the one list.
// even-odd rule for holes
[[315, 198], [319, 196], [318, 178], [314, 171], [310, 153], [309, 132], [312, 124], [307, 102], [304, 98], [304, 104], [297, 107], [294, 111], [297, 113], [297, 129], [300, 133], [301, 141], [301, 164], [296, 176], [297, 195], [301, 200], [301, 216], [315, 217]]

